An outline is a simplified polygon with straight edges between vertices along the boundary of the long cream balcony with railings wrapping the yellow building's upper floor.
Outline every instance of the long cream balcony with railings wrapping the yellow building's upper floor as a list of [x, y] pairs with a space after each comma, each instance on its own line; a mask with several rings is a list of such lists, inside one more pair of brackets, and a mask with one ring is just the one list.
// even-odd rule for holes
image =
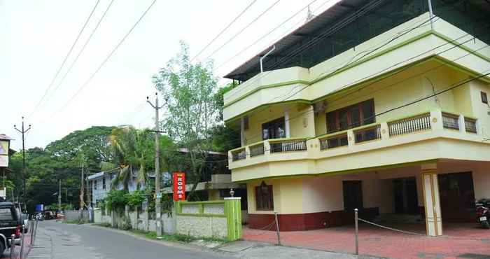
[[[280, 174], [283, 175], [288, 174], [286, 172], [288, 170], [296, 170], [297, 174], [320, 174], [325, 170], [335, 170], [335, 168], [355, 169], [360, 164], [376, 165], [377, 162], [379, 165], [384, 165], [395, 161], [414, 162], [414, 160], [423, 160], [423, 158], [438, 159], [442, 156], [440, 153], [443, 152], [434, 149], [437, 147], [431, 150], [431, 145], [434, 144], [430, 141], [454, 139], [482, 144], [482, 135], [478, 129], [476, 118], [442, 111], [428, 111], [315, 138], [260, 141], [229, 151], [231, 158], [229, 167], [232, 169], [233, 181], [239, 181], [247, 177], [243, 175], [236, 177], [233, 173], [243, 171], [251, 165], [269, 165], [260, 168], [269, 170], [268, 176], [273, 176], [272, 174], [276, 174], [272, 172], [273, 170], [279, 171], [279, 167], [276, 167], [279, 164], [274, 162], [280, 161], [296, 162], [296, 164], [286, 163], [287, 167], [281, 167], [280, 170], [284, 173]], [[423, 152], [428, 152], [428, 154], [417, 151], [412, 144], [425, 145]], [[402, 152], [406, 154], [395, 151], [397, 147], [404, 148]], [[392, 148], [393, 152], [385, 153], [390, 151], [387, 148]], [[381, 154], [384, 155], [379, 157], [379, 152], [366, 151], [382, 151]], [[338, 162], [335, 162], [336, 160]], [[274, 163], [274, 169], [271, 162]], [[258, 167], [254, 167], [253, 170], [260, 171]], [[302, 172], [302, 170], [307, 170], [307, 172]]]

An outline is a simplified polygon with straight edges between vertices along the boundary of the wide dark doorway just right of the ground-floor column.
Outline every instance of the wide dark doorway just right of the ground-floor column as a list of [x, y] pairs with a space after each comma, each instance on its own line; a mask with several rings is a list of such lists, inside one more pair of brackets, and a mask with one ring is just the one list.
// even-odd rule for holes
[[475, 221], [475, 191], [471, 172], [438, 174], [437, 178], [444, 221]]

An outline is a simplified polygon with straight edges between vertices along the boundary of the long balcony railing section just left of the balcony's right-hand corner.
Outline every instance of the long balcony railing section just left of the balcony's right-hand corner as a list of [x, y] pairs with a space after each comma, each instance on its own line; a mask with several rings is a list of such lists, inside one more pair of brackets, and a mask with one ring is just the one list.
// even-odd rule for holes
[[409, 118], [388, 122], [388, 133], [391, 136], [430, 130], [430, 113], [423, 113]]

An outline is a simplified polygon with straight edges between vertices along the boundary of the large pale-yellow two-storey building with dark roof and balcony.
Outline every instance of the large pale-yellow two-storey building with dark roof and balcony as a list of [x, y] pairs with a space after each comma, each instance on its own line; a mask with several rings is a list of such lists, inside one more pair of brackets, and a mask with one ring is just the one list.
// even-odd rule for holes
[[[490, 4], [344, 0], [230, 72], [223, 116], [248, 221], [311, 230], [490, 197]], [[272, 50], [272, 51], [271, 51]], [[262, 63], [262, 64], [261, 64]], [[263, 71], [261, 71], [263, 66]]]

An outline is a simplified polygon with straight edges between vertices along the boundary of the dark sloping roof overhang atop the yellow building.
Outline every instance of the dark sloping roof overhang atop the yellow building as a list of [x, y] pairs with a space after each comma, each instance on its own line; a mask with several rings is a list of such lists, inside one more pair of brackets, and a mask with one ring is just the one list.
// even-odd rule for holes
[[[241, 64], [236, 69], [228, 73], [225, 78], [246, 80], [255, 76], [256, 73], [260, 71], [260, 57], [265, 55], [271, 48], [275, 45], [276, 49], [267, 57], [272, 59], [272, 57], [287, 57], [288, 55], [295, 55], [294, 52], [297, 51], [297, 45], [303, 40], [309, 40], [318, 35], [320, 29], [327, 29], [332, 27], [336, 22], [343, 18], [344, 16], [352, 13], [353, 8], [358, 8], [359, 6], [365, 5], [373, 0], [342, 0], [335, 3], [332, 7], [323, 11], [323, 13], [316, 15], [313, 19], [306, 22], [301, 27], [295, 29], [295, 31], [284, 36], [283, 38], [276, 41], [274, 44], [262, 50], [257, 55], [248, 59], [247, 62]], [[265, 65], [266, 59], [264, 59], [264, 69], [267, 69]]]

